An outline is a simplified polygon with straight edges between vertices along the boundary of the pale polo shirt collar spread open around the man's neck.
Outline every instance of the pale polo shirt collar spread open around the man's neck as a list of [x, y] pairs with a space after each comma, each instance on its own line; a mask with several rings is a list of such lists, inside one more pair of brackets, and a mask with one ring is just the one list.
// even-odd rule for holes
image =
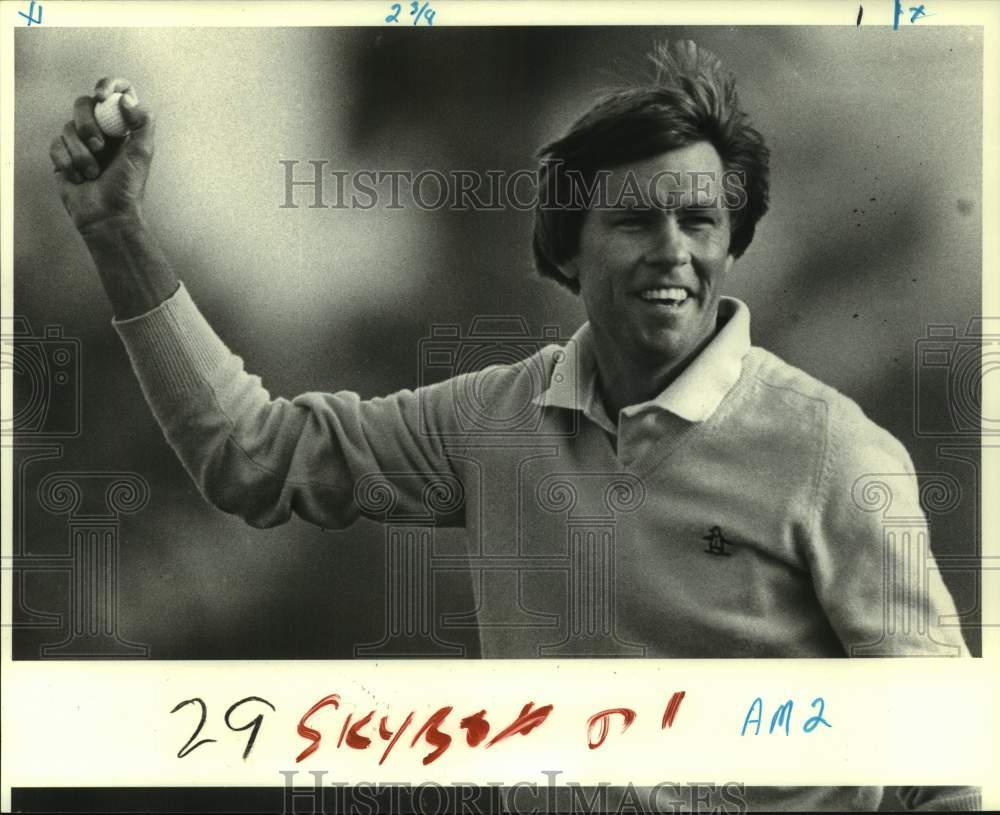
[[[732, 297], [719, 301], [721, 327], [712, 341], [658, 396], [622, 409], [625, 416], [656, 408], [689, 422], [703, 422], [732, 390], [750, 350], [750, 309]], [[549, 378], [549, 385], [534, 400], [551, 407], [581, 410], [610, 433], [615, 423], [597, 393], [597, 360], [590, 323], [584, 323], [563, 347]]]

